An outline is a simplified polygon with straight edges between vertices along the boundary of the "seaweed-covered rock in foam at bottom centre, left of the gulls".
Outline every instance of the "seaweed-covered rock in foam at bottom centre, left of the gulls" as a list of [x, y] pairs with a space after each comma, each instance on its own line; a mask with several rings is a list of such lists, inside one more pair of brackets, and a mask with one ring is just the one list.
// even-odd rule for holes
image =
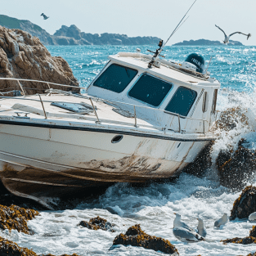
[[168, 240], [147, 235], [144, 231], [141, 231], [140, 225], [129, 227], [125, 234], [121, 233], [119, 236], [116, 236], [113, 245], [141, 246], [145, 249], [154, 249], [165, 254], [179, 255], [175, 246]]

